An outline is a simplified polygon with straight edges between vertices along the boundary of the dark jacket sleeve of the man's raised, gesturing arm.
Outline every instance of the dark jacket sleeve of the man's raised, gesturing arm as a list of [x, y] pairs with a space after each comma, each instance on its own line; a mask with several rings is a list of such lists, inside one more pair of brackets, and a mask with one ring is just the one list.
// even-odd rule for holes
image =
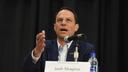
[[46, 61], [46, 51], [44, 51], [40, 59], [35, 63], [32, 59], [31, 52], [24, 58], [23, 72], [43, 72]]

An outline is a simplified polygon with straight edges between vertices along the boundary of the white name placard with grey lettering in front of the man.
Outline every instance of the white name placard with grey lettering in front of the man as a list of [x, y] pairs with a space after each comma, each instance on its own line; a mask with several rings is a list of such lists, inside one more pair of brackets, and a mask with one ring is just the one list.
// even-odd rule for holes
[[90, 63], [46, 61], [45, 72], [90, 72]]

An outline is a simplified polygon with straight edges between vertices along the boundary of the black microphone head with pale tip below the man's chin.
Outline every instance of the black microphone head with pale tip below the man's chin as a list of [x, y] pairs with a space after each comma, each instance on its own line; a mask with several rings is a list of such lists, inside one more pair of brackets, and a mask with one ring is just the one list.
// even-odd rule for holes
[[71, 37], [69, 36], [64, 37], [64, 41], [66, 42], [70, 42], [71, 40], [80, 40], [80, 39], [85, 39], [85, 34], [76, 34]]

